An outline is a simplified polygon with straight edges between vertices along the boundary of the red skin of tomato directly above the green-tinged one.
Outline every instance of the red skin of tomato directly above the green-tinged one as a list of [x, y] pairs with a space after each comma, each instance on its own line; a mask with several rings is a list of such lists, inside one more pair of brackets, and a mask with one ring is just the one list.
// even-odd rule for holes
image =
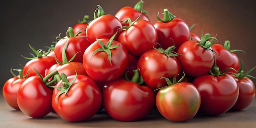
[[176, 57], [168, 58], [166, 54], [159, 52], [157, 49], [142, 54], [137, 67], [140, 69], [139, 73], [144, 82], [154, 90], [167, 86], [166, 80], [160, 79], [161, 77], [173, 79], [181, 71], [180, 62]]

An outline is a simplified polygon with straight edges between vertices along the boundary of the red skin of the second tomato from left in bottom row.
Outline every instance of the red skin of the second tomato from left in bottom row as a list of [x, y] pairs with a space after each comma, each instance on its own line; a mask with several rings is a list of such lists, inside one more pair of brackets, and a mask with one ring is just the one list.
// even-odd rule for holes
[[29, 117], [44, 117], [53, 110], [52, 90], [39, 76], [31, 76], [20, 85], [17, 103], [20, 110]]

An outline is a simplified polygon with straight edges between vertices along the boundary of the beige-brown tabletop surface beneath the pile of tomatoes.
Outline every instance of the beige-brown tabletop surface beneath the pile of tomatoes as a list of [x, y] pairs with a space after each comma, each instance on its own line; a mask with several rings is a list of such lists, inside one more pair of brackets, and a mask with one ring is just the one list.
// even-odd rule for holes
[[141, 121], [121, 122], [111, 119], [104, 111], [91, 119], [79, 123], [71, 123], [50, 113], [44, 118], [33, 119], [21, 111], [13, 110], [0, 95], [0, 128], [256, 128], [256, 99], [244, 110], [227, 112], [208, 117], [196, 115], [193, 119], [177, 123], [166, 120], [157, 110]]

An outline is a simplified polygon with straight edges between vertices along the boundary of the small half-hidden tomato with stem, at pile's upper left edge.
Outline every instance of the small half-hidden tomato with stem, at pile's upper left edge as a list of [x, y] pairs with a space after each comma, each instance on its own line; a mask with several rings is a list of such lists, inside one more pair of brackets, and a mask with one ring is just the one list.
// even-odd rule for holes
[[77, 34], [78, 32], [81, 32], [79, 34], [79, 36], [86, 36], [86, 27], [88, 26], [88, 21], [87, 19], [89, 18], [88, 15], [85, 15], [83, 17], [83, 20], [80, 21], [78, 20], [78, 23], [76, 23], [74, 26], [73, 26], [73, 30], [74, 30], [74, 33]]

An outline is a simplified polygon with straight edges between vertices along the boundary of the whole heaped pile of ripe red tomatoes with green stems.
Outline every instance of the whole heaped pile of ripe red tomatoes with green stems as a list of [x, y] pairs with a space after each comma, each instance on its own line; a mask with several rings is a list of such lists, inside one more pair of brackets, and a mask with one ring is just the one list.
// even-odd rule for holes
[[[33, 118], [56, 112], [70, 122], [100, 110], [118, 121], [137, 121], [153, 108], [170, 121], [197, 113], [220, 115], [248, 107], [254, 83], [230, 42], [192, 34], [164, 9], [152, 23], [142, 1], [115, 15], [98, 5], [94, 20], [69, 27], [48, 51], [34, 49], [3, 88], [9, 106]], [[18, 71], [19, 75], [13, 73]]]

